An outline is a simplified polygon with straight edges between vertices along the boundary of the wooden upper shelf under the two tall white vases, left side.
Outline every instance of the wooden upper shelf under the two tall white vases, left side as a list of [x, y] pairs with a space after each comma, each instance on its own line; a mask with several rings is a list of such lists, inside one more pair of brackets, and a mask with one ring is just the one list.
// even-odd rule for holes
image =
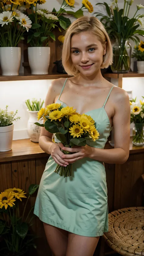
[[22, 81], [22, 80], [44, 80], [44, 79], [57, 79], [57, 78], [67, 78], [69, 77], [67, 74], [62, 73], [54, 73], [48, 75], [19, 75], [19, 76], [0, 76], [0, 81]]

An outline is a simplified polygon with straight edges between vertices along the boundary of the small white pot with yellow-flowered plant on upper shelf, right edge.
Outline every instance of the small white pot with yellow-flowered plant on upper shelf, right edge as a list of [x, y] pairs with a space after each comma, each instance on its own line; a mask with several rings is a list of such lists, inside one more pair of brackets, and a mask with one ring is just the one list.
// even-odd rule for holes
[[144, 73], [144, 42], [143, 41], [135, 45], [132, 57], [135, 57], [137, 60], [138, 73]]

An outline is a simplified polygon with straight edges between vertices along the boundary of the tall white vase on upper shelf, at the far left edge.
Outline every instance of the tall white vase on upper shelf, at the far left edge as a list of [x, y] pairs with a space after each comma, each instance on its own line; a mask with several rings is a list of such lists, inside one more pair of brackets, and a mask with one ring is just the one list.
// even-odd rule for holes
[[0, 47], [2, 76], [18, 76], [21, 60], [20, 47]]

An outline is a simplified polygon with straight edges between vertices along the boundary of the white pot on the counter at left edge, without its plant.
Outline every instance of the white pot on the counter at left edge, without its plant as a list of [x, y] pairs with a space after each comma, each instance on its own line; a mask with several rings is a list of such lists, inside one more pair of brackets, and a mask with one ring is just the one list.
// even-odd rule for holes
[[12, 149], [14, 124], [0, 127], [0, 152]]

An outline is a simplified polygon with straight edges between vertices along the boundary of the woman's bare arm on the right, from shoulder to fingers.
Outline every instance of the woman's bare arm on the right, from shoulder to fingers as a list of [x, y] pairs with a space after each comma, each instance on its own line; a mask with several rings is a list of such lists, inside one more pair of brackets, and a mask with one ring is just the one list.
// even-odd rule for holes
[[[130, 140], [130, 104], [129, 96], [124, 90], [118, 90], [115, 94], [115, 114], [113, 117], [115, 148], [100, 149], [88, 145], [77, 148], [66, 148], [63, 150], [77, 152], [73, 155], [63, 155], [67, 162], [75, 162], [78, 159], [89, 157], [91, 159], [105, 162], [118, 163], [126, 162], [129, 157]], [[76, 159], [77, 158], [77, 159]]]

